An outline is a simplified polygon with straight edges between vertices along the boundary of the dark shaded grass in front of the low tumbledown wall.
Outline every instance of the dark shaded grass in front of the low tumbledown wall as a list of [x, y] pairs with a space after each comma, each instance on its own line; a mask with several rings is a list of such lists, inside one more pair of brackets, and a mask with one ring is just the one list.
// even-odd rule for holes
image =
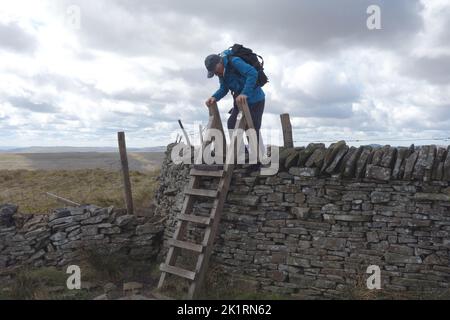
[[[13, 274], [10, 282], [0, 283], [0, 300], [91, 300], [103, 294], [106, 283], [116, 284], [119, 295], [125, 282], [137, 281], [147, 288], [156, 287], [159, 269], [155, 262], [133, 261], [126, 255], [84, 252], [78, 263], [81, 282], [95, 284], [91, 290], [69, 290], [65, 269], [55, 267], [24, 267]], [[158, 271], [157, 271], [158, 270]], [[55, 288], [59, 288], [55, 291]]]

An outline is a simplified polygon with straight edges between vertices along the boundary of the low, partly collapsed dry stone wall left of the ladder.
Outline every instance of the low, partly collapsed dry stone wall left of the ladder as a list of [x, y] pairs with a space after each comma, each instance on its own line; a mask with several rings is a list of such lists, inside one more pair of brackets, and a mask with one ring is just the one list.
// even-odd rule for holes
[[79, 261], [85, 250], [154, 259], [163, 227], [124, 209], [94, 205], [68, 207], [52, 214], [19, 214], [0, 205], [0, 271], [18, 266], [58, 266]]

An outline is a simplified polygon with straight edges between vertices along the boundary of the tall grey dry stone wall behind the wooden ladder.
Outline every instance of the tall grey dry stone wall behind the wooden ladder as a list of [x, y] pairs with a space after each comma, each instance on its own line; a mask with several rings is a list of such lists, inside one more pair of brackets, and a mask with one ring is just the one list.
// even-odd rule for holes
[[[172, 236], [190, 169], [170, 161], [172, 147], [156, 195], [157, 213], [168, 218], [164, 239]], [[381, 268], [385, 290], [448, 290], [449, 151], [339, 141], [282, 149], [274, 176], [239, 166], [213, 260], [261, 290], [305, 297], [340, 297], [365, 285], [370, 265]], [[195, 212], [210, 208], [202, 199]]]

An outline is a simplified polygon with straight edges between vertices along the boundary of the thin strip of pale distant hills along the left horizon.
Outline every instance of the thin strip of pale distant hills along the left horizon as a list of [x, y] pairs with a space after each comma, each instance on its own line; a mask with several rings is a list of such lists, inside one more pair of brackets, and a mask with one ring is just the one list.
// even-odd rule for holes
[[[127, 148], [128, 152], [164, 152], [165, 146]], [[66, 152], [119, 152], [115, 147], [0, 147], [3, 153], [66, 153]]]

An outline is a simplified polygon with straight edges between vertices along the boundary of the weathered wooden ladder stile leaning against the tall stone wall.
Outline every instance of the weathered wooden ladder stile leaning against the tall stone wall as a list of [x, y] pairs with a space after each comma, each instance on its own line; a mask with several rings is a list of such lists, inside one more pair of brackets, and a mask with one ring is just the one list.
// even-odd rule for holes
[[[219, 228], [222, 209], [227, 198], [233, 169], [236, 163], [237, 152], [234, 151], [238, 143], [238, 138], [241, 137], [239, 130], [237, 129], [241, 129], [242, 132], [242, 130], [254, 128], [247, 103], [238, 105], [238, 108], [239, 114], [237, 116], [235, 129], [230, 138], [230, 145], [226, 152], [222, 153], [227, 157], [225, 164], [223, 166], [194, 165], [194, 168], [190, 171], [191, 178], [189, 185], [185, 190], [183, 208], [180, 215], [177, 217], [177, 227], [173, 234], [173, 238], [169, 240], [169, 250], [165, 263], [162, 263], [160, 266], [161, 277], [159, 279], [158, 289], [162, 288], [167, 273], [191, 281], [187, 295], [188, 299], [195, 299], [202, 287], [206, 271], [208, 270], [209, 258], [213, 251], [214, 239]], [[209, 107], [209, 122], [207, 129], [217, 129], [221, 131], [225, 149], [226, 140], [216, 103]], [[205, 150], [204, 148], [211, 143], [210, 132], [210, 130], [206, 131], [206, 137], [202, 143], [202, 150]], [[233, 160], [230, 161], [228, 157], [233, 157]], [[217, 190], [199, 189], [200, 180], [203, 177], [219, 179]], [[213, 198], [213, 205], [209, 217], [193, 214], [194, 201], [197, 197]], [[189, 223], [206, 226], [203, 241], [201, 243], [192, 243], [185, 240]], [[197, 255], [197, 263], [194, 271], [175, 266], [180, 250], [188, 250]]]

